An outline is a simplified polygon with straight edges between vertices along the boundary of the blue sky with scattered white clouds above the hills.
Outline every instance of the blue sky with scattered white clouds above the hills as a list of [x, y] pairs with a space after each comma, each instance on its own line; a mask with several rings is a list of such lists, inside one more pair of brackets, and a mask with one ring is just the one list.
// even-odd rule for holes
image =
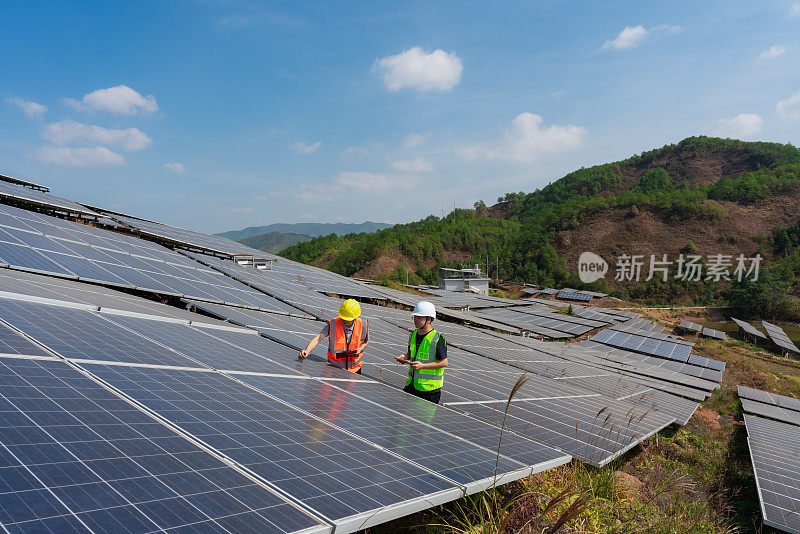
[[800, 143], [800, 3], [4, 2], [0, 173], [205, 232]]

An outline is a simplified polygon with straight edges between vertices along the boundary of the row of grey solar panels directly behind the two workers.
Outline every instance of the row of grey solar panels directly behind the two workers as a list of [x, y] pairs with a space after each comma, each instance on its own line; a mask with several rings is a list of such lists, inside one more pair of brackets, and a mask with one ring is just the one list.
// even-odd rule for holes
[[[256, 328], [262, 335], [296, 351], [305, 348], [309, 339], [319, 333], [322, 326], [322, 323], [317, 321], [293, 317], [278, 318], [268, 313], [203, 302], [192, 304], [236, 324]], [[403, 330], [402, 325], [411, 324], [408, 312], [368, 304], [362, 306], [362, 312], [368, 318], [371, 339], [362, 368], [364, 375], [402, 389], [407, 370], [398, 369], [394, 358], [407, 349], [409, 332]], [[468, 330], [484, 345], [498, 344], [498, 340], [489, 334], [478, 333], [458, 325], [440, 323], [437, 328], [445, 339], [454, 331]], [[508, 400], [511, 387], [526, 369], [484, 356], [483, 352], [474, 347], [466, 351], [461, 349], [464, 344], [453, 344], [448, 341], [448, 345], [450, 365], [445, 373], [442, 403], [488, 422], [498, 421], [500, 410]], [[525, 347], [518, 345], [514, 347], [518, 349], [516, 354], [530, 353]], [[322, 360], [325, 357], [325, 350], [318, 347], [315, 349], [315, 354]], [[495, 347], [485, 354], [496, 356], [498, 350]], [[548, 359], [557, 360], [557, 358]], [[535, 441], [568, 452], [583, 461], [603, 465], [634, 446], [643, 437], [652, 434], [656, 428], [668, 424], [666, 421], [673, 420], [665, 418], [665, 414], [652, 412], [650, 415], [657, 413], [658, 415], [644, 417], [641, 424], [634, 425], [635, 429], [630, 428], [632, 432], [626, 431], [619, 435], [616, 432], [609, 432], [609, 425], [612, 423], [606, 422], [606, 415], [614, 422], [613, 424], [625, 426], [623, 421], [627, 421], [626, 413], [643, 415], [651, 407], [644, 406], [643, 403], [637, 405], [631, 399], [616, 400], [599, 394], [596, 389], [587, 390], [585, 384], [580, 383], [577, 374], [574, 375], [577, 380], [575, 383], [570, 383], [563, 376], [560, 376], [560, 379], [553, 379], [553, 375], [561, 375], [561, 371], [568, 365], [562, 362], [558, 371], [555, 370], [556, 366], [550, 365], [550, 367], [553, 370], [550, 377], [532, 376], [517, 393], [512, 403], [514, 407], [510, 412], [512, 417], [508, 420], [511, 423], [510, 429]], [[584, 376], [585, 374], [583, 373]], [[589, 374], [602, 373], [590, 370]], [[619, 380], [618, 376], [616, 380]], [[696, 402], [685, 406], [682, 417], [686, 412], [691, 415], [694, 408]], [[603, 420], [597, 418], [601, 410], [604, 414], [601, 418]]]

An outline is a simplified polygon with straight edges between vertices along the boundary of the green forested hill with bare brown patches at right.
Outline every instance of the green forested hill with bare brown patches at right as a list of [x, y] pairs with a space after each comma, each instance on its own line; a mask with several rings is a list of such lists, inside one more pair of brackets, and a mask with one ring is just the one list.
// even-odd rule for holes
[[[507, 193], [490, 207], [481, 201], [373, 234], [318, 237], [282, 254], [344, 275], [405, 281], [408, 270], [410, 279], [430, 283], [438, 267], [464, 262], [488, 266], [493, 279], [582, 287], [576, 268], [583, 251], [604, 258], [760, 253], [767, 269], [758, 286], [623, 284], [611, 276], [592, 287], [662, 303], [733, 302], [737, 291], [774, 303], [773, 293], [800, 289], [798, 191], [796, 147], [690, 137], [578, 169], [530, 193]], [[791, 303], [777, 300], [772, 312], [785, 314]]]

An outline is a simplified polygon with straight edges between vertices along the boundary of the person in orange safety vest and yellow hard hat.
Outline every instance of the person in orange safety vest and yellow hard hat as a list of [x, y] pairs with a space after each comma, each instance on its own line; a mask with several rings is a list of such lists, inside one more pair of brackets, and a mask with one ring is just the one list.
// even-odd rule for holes
[[300, 351], [300, 359], [307, 358], [314, 347], [328, 338], [328, 363], [334, 367], [361, 374], [364, 349], [369, 345], [368, 321], [361, 318], [361, 306], [347, 299], [339, 308], [339, 317], [325, 322], [322, 332]]

